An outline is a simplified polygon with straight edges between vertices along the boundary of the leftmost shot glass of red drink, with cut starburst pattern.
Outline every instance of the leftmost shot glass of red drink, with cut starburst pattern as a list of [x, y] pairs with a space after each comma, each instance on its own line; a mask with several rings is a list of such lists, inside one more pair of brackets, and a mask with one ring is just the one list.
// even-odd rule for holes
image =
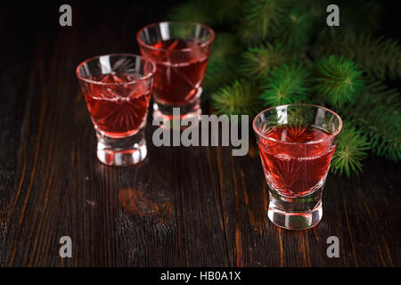
[[155, 69], [152, 61], [125, 53], [97, 56], [78, 65], [102, 163], [129, 166], [146, 157], [144, 127]]

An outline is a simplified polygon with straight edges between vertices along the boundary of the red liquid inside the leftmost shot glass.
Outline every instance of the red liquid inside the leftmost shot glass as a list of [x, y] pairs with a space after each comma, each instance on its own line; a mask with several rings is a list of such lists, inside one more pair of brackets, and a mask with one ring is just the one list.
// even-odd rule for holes
[[[135, 134], [144, 124], [151, 91], [144, 83], [132, 83], [141, 76], [131, 73], [102, 74], [91, 77], [105, 84], [91, 84], [86, 88], [85, 100], [94, 126], [110, 137]], [[127, 82], [127, 84], [124, 84]], [[129, 82], [129, 84], [128, 84]]]

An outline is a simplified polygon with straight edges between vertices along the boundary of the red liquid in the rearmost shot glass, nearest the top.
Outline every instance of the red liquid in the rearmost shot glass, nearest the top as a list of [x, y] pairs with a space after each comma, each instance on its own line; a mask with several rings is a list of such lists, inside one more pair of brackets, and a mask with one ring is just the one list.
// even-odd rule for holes
[[149, 49], [143, 53], [156, 62], [153, 83], [156, 101], [174, 106], [192, 102], [201, 88], [208, 64], [208, 50], [200, 43], [182, 39], [160, 41], [152, 46], [163, 49]]

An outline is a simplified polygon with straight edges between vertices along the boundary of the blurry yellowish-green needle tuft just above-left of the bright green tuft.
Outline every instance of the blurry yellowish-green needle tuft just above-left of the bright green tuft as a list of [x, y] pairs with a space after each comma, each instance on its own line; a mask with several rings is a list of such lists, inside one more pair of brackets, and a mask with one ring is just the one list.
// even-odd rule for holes
[[245, 77], [265, 78], [276, 66], [288, 61], [282, 45], [251, 47], [242, 53], [241, 74]]

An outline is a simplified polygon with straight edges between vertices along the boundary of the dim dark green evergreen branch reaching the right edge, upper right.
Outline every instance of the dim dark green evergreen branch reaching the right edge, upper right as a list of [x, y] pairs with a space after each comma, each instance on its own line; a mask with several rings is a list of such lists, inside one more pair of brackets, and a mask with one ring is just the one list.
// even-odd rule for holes
[[343, 54], [356, 61], [369, 75], [381, 80], [386, 76], [391, 79], [401, 77], [401, 45], [392, 38], [324, 31], [317, 38], [312, 54], [315, 57]]

